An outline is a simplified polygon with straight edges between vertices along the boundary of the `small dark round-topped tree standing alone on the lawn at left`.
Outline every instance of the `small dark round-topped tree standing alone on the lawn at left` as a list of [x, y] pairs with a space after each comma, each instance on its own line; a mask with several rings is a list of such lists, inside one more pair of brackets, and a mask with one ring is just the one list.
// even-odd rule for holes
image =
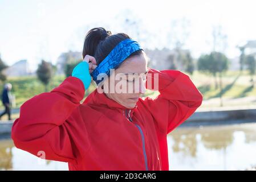
[[47, 86], [53, 76], [52, 64], [42, 60], [42, 62], [38, 65], [36, 75], [38, 76], [38, 79], [43, 82], [45, 92], [47, 92]]

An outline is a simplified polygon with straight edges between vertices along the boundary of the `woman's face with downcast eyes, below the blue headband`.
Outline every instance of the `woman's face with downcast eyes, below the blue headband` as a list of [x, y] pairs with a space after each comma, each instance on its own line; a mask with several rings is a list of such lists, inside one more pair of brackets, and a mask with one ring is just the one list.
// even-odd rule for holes
[[133, 108], [145, 91], [147, 56], [129, 57], [104, 81], [104, 93], [117, 103]]

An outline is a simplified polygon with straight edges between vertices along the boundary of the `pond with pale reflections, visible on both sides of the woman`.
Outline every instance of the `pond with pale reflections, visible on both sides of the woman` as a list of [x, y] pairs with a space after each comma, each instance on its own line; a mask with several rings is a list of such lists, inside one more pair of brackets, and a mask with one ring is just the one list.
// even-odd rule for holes
[[[256, 166], [256, 123], [178, 127], [168, 135], [170, 170], [243, 170]], [[0, 140], [0, 170], [68, 170]]]

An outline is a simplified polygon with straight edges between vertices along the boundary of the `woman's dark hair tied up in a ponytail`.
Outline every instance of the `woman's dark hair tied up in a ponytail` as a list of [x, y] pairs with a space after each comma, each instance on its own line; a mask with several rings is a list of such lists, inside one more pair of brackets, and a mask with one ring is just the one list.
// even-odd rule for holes
[[[84, 39], [83, 59], [86, 55], [94, 56], [98, 65], [117, 44], [125, 39], [131, 38], [124, 33], [112, 35], [111, 31], [107, 31], [102, 27], [92, 28], [87, 32]], [[141, 55], [142, 53], [142, 50], [135, 51], [129, 57]]]

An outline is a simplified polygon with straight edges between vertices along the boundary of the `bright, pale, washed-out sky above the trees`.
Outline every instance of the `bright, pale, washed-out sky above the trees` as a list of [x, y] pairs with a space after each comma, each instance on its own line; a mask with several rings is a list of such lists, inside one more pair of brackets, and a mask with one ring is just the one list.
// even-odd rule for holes
[[[41, 59], [55, 64], [62, 52], [82, 51], [88, 30], [105, 27], [144, 48], [173, 48], [170, 42], [182, 38], [183, 48], [198, 57], [213, 50], [213, 28], [221, 27], [226, 46], [220, 51], [233, 58], [238, 45], [256, 40], [255, 7], [254, 0], [0, 0], [0, 54], [7, 65], [22, 59], [31, 69]], [[139, 28], [124, 25], [127, 18]]]

